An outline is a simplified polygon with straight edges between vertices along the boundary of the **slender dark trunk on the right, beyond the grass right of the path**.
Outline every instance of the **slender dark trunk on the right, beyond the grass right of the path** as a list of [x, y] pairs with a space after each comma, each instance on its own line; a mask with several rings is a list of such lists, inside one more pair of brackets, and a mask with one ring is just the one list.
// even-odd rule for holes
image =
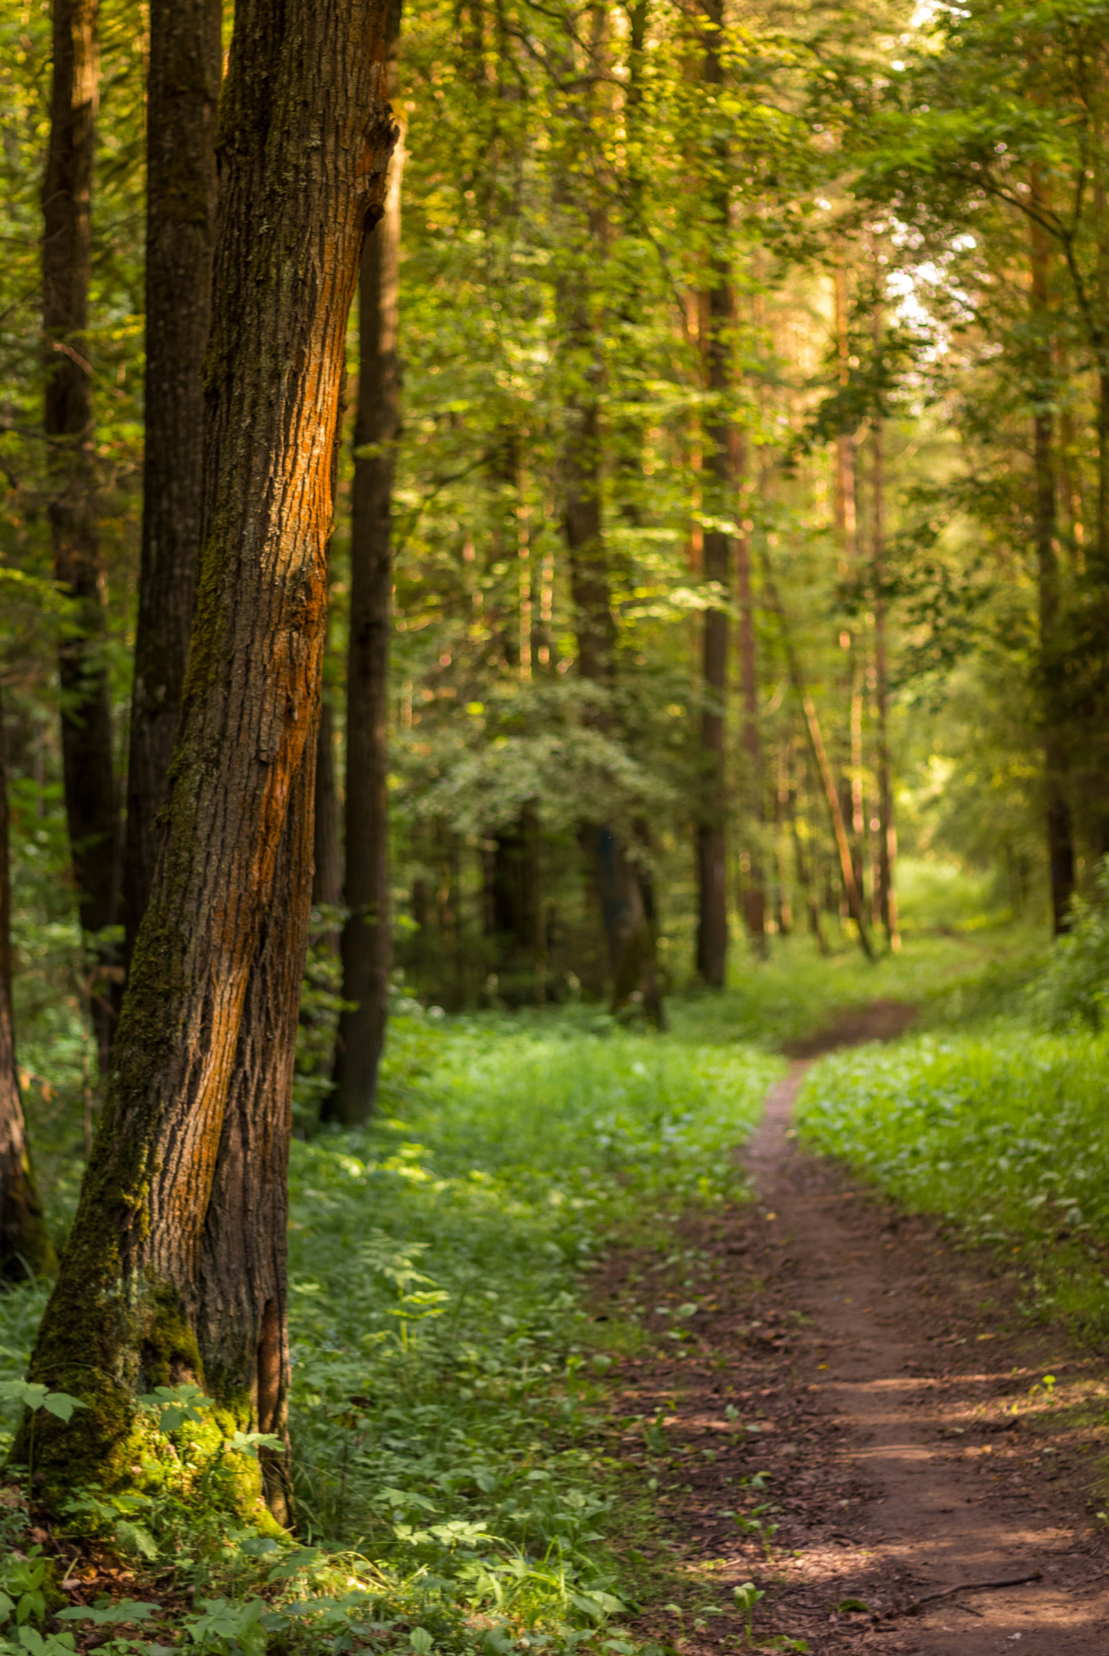
[[[1033, 192], [1043, 194], [1043, 181], [1033, 172]], [[1069, 924], [1074, 894], [1074, 841], [1068, 802], [1068, 744], [1059, 717], [1059, 674], [1063, 644], [1059, 639], [1059, 561], [1056, 556], [1056, 480], [1054, 416], [1051, 411], [1053, 371], [1049, 328], [1049, 262], [1048, 233], [1031, 224], [1031, 320], [1038, 330], [1036, 409], [1033, 414], [1033, 470], [1036, 565], [1039, 583], [1039, 682], [1043, 697], [1044, 806], [1048, 826], [1048, 863], [1051, 871], [1051, 922], [1056, 937]], [[1102, 503], [1099, 502], [1099, 513]], [[1099, 530], [1101, 533], [1101, 530]]]

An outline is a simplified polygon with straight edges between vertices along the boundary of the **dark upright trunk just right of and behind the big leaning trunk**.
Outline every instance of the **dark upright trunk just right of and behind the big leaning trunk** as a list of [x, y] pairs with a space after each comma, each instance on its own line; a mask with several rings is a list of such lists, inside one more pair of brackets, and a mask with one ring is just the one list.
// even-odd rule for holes
[[[388, 0], [390, 83], [396, 75], [400, 0]], [[390, 1010], [388, 694], [393, 596], [393, 469], [400, 434], [396, 303], [401, 245], [403, 146], [390, 169], [385, 217], [361, 250], [358, 412], [350, 535], [350, 654], [346, 659], [346, 884], [343, 1000], [335, 1042], [335, 1090], [323, 1118], [368, 1121]], [[370, 450], [370, 452], [366, 452]]]

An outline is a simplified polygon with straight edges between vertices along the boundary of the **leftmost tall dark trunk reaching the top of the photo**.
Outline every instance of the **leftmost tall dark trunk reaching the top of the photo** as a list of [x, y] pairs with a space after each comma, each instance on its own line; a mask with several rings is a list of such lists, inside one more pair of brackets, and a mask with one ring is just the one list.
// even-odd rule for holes
[[71, 623], [58, 652], [65, 806], [103, 1071], [118, 994], [111, 946], [94, 939], [116, 924], [119, 811], [104, 662], [104, 566], [96, 532], [93, 369], [86, 354], [99, 86], [96, 10], [98, 0], [55, 0], [53, 7], [50, 147], [43, 177], [43, 336], [50, 533], [55, 576], [73, 598]]

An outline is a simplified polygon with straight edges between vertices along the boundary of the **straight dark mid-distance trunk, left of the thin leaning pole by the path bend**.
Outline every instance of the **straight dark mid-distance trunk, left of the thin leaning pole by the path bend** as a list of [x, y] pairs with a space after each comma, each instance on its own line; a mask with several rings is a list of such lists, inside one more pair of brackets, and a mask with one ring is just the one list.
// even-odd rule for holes
[[[721, 86], [724, 79], [719, 60], [719, 28], [723, 25], [723, 0], [708, 0], [705, 7], [706, 30], [705, 81]], [[714, 162], [726, 169], [728, 151], [723, 142], [714, 147]], [[731, 517], [734, 510], [734, 480], [731, 475], [729, 422], [724, 399], [731, 388], [731, 277], [728, 258], [728, 185], [718, 182], [709, 195], [709, 217], [714, 233], [708, 300], [708, 396], [709, 419], [706, 437], [706, 500], [713, 518]], [[724, 601], [731, 590], [731, 538], [719, 528], [705, 530], [701, 575], [716, 581]], [[698, 869], [698, 926], [696, 969], [711, 987], [723, 989], [728, 965], [728, 884], [724, 878], [724, 707], [728, 699], [728, 613], [705, 611], [703, 634], [703, 710], [701, 710], [701, 802], [696, 825]]]

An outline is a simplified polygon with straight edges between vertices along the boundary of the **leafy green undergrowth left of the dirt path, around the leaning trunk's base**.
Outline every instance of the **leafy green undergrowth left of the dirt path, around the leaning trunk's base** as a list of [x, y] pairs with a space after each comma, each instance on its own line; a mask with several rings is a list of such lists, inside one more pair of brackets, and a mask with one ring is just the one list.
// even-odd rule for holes
[[[741, 1194], [731, 1151], [777, 1068], [574, 1018], [400, 1022], [373, 1129], [293, 1146], [297, 1545], [220, 1507], [201, 1427], [157, 1416], [159, 1475], [123, 1502], [78, 1492], [68, 1520], [86, 1600], [119, 1596], [96, 1548], [124, 1570], [123, 1608], [81, 1611], [109, 1618], [99, 1648], [635, 1649], [610, 1540], [650, 1495], [603, 1413], [642, 1335], [590, 1320], [590, 1270], [613, 1239], [666, 1250], [683, 1209]], [[40, 1308], [36, 1290], [0, 1300], [0, 1378]], [[13, 1485], [5, 1500], [0, 1648], [86, 1648], [94, 1623], [51, 1621], [51, 1543], [36, 1553]]]

